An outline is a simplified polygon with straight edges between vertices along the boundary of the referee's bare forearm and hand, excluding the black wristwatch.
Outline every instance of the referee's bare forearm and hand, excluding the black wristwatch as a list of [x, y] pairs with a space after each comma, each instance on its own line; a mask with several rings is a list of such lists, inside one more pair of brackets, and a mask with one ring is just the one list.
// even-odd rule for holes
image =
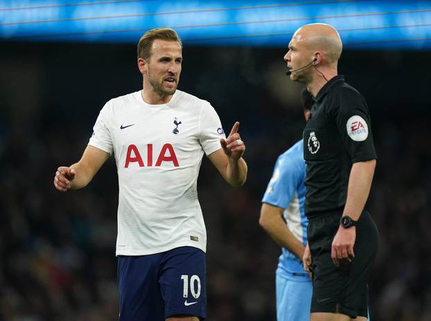
[[[376, 159], [353, 164], [349, 176], [347, 200], [344, 206], [343, 216], [350, 216], [353, 220], [358, 220], [360, 218], [369, 196], [375, 168]], [[355, 257], [355, 253], [353, 252], [355, 239], [356, 227], [353, 226], [347, 229], [341, 225], [338, 227], [331, 250], [331, 257], [335, 266], [339, 266], [340, 261], [351, 261], [351, 259]]]

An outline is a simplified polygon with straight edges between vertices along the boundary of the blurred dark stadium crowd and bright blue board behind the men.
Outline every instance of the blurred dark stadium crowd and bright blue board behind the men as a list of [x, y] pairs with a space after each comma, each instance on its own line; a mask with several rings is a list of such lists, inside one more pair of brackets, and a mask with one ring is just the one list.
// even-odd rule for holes
[[227, 186], [204, 159], [208, 320], [274, 318], [279, 248], [258, 226], [276, 157], [301, 138], [301, 85], [283, 55], [301, 25], [339, 29], [339, 72], [366, 98], [380, 229], [371, 320], [431, 320], [430, 1], [0, 0], [0, 321], [116, 320], [115, 162], [60, 193], [110, 98], [139, 90], [135, 46], [157, 26], [184, 40], [179, 89], [225, 130], [240, 121], [249, 177]]

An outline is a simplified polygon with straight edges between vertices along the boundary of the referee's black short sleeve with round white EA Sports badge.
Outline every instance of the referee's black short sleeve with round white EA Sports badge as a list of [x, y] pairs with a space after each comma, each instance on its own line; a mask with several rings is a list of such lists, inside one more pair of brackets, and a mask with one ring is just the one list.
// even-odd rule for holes
[[340, 87], [333, 116], [351, 162], [376, 159], [371, 119], [364, 98], [353, 88]]

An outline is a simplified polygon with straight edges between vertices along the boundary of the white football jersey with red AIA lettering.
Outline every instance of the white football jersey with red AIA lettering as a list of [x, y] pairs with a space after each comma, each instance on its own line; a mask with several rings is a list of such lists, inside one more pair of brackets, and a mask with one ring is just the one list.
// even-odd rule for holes
[[116, 255], [180, 246], [206, 251], [197, 175], [204, 153], [221, 148], [220, 138], [225, 132], [210, 103], [179, 90], [164, 105], [145, 103], [141, 92], [106, 103], [89, 145], [116, 160]]

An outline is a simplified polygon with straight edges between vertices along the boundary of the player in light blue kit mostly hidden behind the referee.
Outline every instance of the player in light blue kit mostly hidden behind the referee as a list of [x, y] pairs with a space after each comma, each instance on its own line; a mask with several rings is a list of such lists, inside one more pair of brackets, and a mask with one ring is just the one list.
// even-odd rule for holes
[[[301, 101], [308, 120], [313, 97], [306, 89], [301, 93]], [[305, 178], [306, 162], [301, 139], [277, 159], [262, 199], [259, 219], [263, 229], [281, 246], [275, 284], [277, 321], [310, 320], [313, 285], [302, 266], [308, 226], [304, 212]]]

